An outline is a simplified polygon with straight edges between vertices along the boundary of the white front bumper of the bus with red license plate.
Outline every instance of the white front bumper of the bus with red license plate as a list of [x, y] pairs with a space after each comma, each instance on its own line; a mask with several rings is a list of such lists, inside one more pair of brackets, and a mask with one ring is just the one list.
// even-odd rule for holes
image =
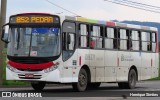
[[60, 71], [12, 71], [6, 67], [6, 80], [60, 82]]

